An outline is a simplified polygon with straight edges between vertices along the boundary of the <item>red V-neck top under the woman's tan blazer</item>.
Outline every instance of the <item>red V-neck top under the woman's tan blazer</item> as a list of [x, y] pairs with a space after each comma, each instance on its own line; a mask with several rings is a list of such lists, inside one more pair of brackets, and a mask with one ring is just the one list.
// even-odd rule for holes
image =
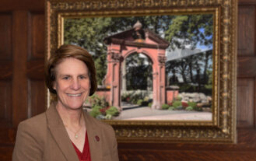
[[91, 156], [89, 154], [89, 142], [88, 142], [87, 131], [86, 131], [86, 141], [85, 141], [85, 144], [83, 145], [82, 152], [79, 151], [79, 149], [75, 146], [73, 142], [72, 142], [72, 145], [74, 146], [75, 152], [79, 157], [79, 161], [91, 161]]

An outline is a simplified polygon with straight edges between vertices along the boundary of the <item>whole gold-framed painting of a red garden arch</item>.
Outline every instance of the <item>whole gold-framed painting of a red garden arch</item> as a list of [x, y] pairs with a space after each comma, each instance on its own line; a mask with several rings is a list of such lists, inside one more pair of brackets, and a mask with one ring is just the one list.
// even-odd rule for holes
[[47, 0], [46, 17], [46, 59], [93, 55], [83, 108], [118, 142], [236, 142], [237, 1]]

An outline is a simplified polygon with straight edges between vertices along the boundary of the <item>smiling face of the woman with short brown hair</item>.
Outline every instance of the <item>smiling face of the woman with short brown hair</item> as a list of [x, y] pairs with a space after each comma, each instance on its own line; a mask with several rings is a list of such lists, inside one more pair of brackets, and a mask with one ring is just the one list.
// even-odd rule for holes
[[86, 64], [75, 58], [65, 58], [55, 68], [53, 88], [57, 92], [58, 107], [77, 110], [89, 95], [90, 80]]

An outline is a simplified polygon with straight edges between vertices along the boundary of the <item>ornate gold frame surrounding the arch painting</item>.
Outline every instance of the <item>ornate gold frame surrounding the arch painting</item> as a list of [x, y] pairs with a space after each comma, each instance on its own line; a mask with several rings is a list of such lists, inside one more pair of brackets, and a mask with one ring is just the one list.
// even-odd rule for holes
[[[237, 0], [47, 0], [46, 60], [63, 42], [63, 19], [212, 13], [212, 121], [106, 121], [118, 142], [236, 142]], [[47, 104], [51, 96], [47, 93]]]

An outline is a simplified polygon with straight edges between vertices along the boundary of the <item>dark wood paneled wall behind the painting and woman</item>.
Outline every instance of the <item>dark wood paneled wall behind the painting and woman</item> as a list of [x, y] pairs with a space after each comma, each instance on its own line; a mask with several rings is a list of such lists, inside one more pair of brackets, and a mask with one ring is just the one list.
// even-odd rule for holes
[[[256, 0], [240, 0], [237, 145], [118, 144], [120, 160], [256, 160]], [[45, 110], [44, 0], [0, 2], [0, 160], [12, 159], [20, 121]]]

